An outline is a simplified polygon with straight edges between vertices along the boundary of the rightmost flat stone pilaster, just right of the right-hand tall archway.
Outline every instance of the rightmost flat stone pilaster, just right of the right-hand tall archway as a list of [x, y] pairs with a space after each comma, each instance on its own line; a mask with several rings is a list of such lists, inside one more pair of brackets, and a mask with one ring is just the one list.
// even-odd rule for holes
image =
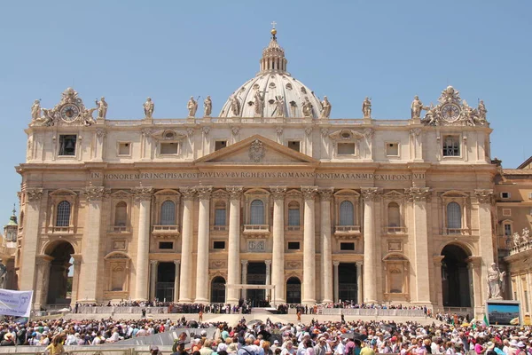
[[[494, 260], [493, 250], [493, 231], [491, 229], [491, 201], [493, 201], [493, 190], [474, 190], [474, 196], [478, 201], [478, 220], [479, 220], [479, 256], [482, 257], [481, 262], [481, 279], [488, 280], [488, 271], [491, 263]], [[486, 292], [487, 288], [483, 288], [481, 292]], [[512, 297], [505, 295], [503, 290], [503, 297], [511, 299]], [[487, 299], [488, 295], [481, 294], [481, 303]], [[475, 304], [478, 306], [481, 304]]]

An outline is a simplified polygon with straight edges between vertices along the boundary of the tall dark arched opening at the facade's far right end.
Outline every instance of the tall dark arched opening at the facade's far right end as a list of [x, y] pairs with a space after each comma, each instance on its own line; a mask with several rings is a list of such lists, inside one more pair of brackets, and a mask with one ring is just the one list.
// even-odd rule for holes
[[467, 253], [458, 245], [442, 249], [442, 296], [445, 307], [471, 307]]

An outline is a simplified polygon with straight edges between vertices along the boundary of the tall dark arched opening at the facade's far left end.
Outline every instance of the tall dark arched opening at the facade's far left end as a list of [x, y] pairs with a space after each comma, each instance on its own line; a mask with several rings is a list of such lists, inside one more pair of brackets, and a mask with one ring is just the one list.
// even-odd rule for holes
[[72, 266], [70, 260], [74, 254], [74, 248], [69, 242], [60, 241], [47, 254], [53, 257], [53, 260], [50, 263], [46, 303], [70, 304], [74, 275], [69, 270]]

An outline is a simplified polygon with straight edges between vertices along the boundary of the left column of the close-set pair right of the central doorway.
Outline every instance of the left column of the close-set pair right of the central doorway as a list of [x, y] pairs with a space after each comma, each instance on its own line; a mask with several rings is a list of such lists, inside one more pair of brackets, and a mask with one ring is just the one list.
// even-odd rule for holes
[[317, 186], [301, 186], [305, 199], [303, 230], [302, 304], [316, 304], [316, 233], [314, 232], [314, 197]]

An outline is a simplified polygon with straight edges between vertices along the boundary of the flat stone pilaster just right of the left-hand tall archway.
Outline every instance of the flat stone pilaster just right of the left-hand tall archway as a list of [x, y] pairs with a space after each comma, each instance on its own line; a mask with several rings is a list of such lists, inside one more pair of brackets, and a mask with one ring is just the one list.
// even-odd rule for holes
[[[85, 196], [85, 228], [83, 233], [82, 270], [80, 278], [83, 280], [78, 290], [80, 300], [85, 303], [95, 303], [98, 288], [101, 288], [100, 271], [100, 238], [102, 220], [103, 186], [86, 187]], [[149, 203], [149, 201], [148, 201]]]

